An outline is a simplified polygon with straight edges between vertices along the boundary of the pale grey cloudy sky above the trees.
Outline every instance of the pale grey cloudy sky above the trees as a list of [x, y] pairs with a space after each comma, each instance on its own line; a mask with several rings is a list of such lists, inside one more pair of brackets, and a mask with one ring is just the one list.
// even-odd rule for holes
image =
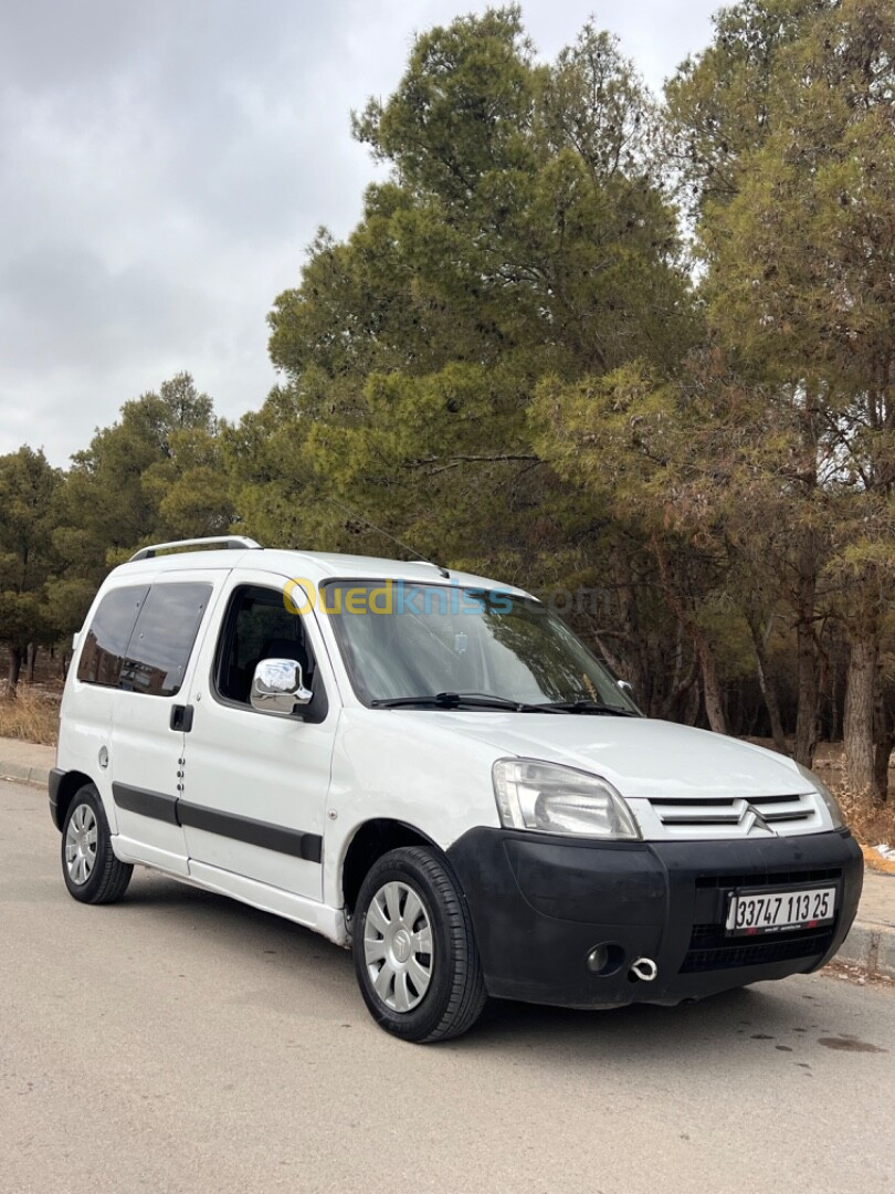
[[[56, 464], [187, 369], [221, 414], [274, 380], [265, 316], [374, 166], [351, 109], [477, 0], [2, 0], [0, 453]], [[585, 20], [659, 87], [718, 0], [525, 0], [553, 57]]]

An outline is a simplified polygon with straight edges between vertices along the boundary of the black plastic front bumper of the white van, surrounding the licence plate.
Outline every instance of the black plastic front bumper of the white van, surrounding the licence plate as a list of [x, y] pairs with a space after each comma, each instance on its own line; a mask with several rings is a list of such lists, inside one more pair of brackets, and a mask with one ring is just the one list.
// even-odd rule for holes
[[[564, 1007], [679, 1003], [816, 970], [842, 943], [864, 875], [847, 830], [730, 842], [566, 844], [474, 829], [448, 851], [475, 925], [490, 995]], [[835, 885], [832, 925], [724, 935], [741, 886]], [[599, 946], [605, 964], [587, 965]], [[653, 981], [632, 979], [649, 958]]]

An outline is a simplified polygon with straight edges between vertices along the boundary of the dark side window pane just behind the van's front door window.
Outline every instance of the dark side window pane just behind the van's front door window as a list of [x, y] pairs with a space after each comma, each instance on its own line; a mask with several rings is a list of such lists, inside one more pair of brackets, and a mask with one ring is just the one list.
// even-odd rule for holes
[[137, 616], [118, 687], [149, 696], [174, 696], [184, 682], [211, 585], [153, 585]]

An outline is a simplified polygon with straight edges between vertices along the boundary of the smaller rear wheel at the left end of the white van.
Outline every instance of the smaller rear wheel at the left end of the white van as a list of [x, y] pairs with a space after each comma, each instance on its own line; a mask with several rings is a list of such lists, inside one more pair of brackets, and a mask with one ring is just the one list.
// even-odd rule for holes
[[128, 890], [134, 867], [116, 858], [99, 793], [86, 783], [62, 823], [62, 878], [82, 904], [113, 904]]

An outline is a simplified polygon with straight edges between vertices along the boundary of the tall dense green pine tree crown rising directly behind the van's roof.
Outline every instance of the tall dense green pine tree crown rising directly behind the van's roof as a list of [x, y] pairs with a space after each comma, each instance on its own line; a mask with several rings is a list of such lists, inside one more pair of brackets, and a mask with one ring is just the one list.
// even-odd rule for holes
[[391, 178], [345, 244], [317, 236], [270, 318], [286, 384], [227, 431], [247, 525], [383, 550], [338, 501], [420, 550], [558, 583], [594, 511], [533, 450], [539, 377], [671, 364], [695, 334], [655, 127], [591, 26], [551, 67], [517, 8], [421, 36], [354, 119]]

